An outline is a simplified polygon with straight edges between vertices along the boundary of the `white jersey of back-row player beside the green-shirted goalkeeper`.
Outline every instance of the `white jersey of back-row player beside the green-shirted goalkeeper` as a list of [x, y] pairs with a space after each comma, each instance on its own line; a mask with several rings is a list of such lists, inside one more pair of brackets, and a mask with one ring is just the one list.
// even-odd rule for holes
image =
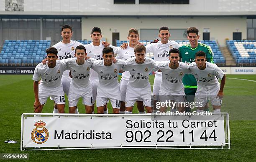
[[146, 53], [153, 52], [155, 61], [169, 61], [169, 50], [179, 48], [181, 45], [174, 40], [168, 40], [168, 43], [163, 44], [161, 41], [146, 45]]

